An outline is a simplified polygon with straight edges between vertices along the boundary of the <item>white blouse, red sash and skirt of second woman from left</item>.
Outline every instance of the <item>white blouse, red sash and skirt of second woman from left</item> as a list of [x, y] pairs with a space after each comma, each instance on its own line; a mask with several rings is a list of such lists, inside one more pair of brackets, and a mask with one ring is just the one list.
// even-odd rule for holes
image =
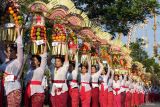
[[43, 107], [45, 94], [42, 80], [47, 64], [47, 53], [41, 55], [40, 67], [28, 70], [26, 74], [25, 107]]

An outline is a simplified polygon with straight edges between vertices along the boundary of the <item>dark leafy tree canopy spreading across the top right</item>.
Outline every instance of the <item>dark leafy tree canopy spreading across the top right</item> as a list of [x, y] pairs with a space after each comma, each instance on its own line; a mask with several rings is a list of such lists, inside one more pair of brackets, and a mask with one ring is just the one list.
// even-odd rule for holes
[[104, 25], [112, 34], [127, 35], [132, 25], [144, 23], [153, 12], [158, 13], [157, 0], [73, 0], [89, 18]]

